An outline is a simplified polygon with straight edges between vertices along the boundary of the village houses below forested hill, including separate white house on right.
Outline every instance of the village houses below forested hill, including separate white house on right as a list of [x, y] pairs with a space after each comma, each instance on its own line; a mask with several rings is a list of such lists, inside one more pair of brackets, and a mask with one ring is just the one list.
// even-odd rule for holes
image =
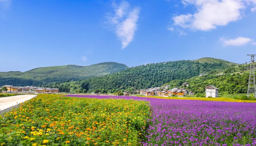
[[[181, 85], [183, 86], [183, 88], [169, 89], [170, 86], [166, 85], [163, 87], [142, 89], [142, 90], [140, 90], [140, 95], [162, 96], [162, 97], [171, 97], [171, 96], [184, 97], [186, 95], [194, 95], [193, 91], [189, 91], [189, 90], [185, 89], [186, 87], [189, 87], [188, 82], [184, 82]], [[205, 87], [205, 90], [206, 90], [206, 97], [218, 97], [219, 89], [217, 87], [209, 85], [209, 86]]]

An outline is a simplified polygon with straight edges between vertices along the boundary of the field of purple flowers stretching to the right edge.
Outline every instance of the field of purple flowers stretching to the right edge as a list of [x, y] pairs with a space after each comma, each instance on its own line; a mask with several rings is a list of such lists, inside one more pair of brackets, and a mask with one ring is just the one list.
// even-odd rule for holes
[[150, 101], [144, 146], [255, 146], [256, 104], [135, 96], [68, 95]]

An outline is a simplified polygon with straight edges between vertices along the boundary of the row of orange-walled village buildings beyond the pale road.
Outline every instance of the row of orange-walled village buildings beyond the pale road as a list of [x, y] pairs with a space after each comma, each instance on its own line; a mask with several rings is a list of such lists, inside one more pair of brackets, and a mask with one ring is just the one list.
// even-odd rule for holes
[[[58, 93], [58, 88], [42, 88], [42, 87], [34, 87], [34, 86], [13, 86], [13, 85], [4, 85], [3, 87], [7, 88], [7, 93], [44, 93], [44, 94], [51, 94], [51, 93]], [[3, 88], [2, 87], [2, 88]]]

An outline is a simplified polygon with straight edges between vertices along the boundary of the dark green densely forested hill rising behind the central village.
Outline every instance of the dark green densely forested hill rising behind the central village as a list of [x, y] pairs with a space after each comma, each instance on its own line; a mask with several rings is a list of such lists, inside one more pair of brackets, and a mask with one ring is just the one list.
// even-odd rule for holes
[[126, 70], [108, 74], [101, 77], [93, 77], [87, 80], [70, 84], [55, 85], [55, 87], [69, 87], [79, 84], [78, 91], [94, 92], [95, 89], [106, 89], [113, 92], [121, 89], [135, 88], [144, 89], [150, 87], [159, 87], [172, 80], [186, 80], [200, 73], [214, 73], [216, 70], [226, 69], [222, 62], [200, 63], [199, 61], [171, 61], [156, 64], [140, 65]]

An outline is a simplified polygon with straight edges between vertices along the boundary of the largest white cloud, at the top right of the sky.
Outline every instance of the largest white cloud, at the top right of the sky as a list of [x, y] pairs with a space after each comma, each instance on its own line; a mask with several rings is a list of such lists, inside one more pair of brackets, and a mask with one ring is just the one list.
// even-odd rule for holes
[[[246, 6], [256, 6], [256, 0], [182, 0], [182, 4], [195, 5], [196, 12], [173, 16], [174, 25], [182, 28], [208, 31], [226, 26], [242, 17]], [[254, 7], [251, 8], [254, 10]]]

